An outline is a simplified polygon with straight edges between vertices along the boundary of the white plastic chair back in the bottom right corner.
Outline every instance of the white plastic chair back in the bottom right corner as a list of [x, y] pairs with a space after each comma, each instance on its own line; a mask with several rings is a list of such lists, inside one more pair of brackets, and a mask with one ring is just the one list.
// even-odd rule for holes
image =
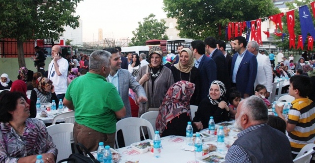
[[297, 154], [296, 158], [293, 160], [294, 163], [310, 163], [312, 159], [312, 153], [314, 152], [315, 144], [307, 144], [305, 145], [299, 154]]

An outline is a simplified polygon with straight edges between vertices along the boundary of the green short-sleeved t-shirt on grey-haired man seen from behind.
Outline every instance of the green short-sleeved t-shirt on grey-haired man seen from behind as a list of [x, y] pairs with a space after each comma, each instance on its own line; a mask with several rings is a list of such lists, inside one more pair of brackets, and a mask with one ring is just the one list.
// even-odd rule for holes
[[75, 121], [105, 134], [116, 132], [116, 115], [124, 103], [116, 87], [98, 74], [87, 73], [71, 81], [65, 99], [72, 101]]

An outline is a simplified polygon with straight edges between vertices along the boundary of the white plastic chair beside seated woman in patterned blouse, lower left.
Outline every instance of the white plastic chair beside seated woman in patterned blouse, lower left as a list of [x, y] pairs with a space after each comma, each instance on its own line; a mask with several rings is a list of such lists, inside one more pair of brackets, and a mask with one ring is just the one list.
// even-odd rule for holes
[[57, 161], [66, 159], [72, 154], [70, 134], [73, 133], [72, 123], [60, 123], [47, 127], [48, 134], [53, 138], [53, 142], [58, 149]]

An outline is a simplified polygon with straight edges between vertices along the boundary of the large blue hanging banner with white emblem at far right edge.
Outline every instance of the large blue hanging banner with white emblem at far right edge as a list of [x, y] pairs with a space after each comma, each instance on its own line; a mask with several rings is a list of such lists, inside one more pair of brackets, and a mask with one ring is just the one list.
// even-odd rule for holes
[[305, 38], [307, 38], [307, 33], [310, 33], [311, 36], [313, 36], [313, 38], [315, 37], [314, 24], [311, 17], [311, 13], [307, 5], [304, 5], [299, 8], [299, 16], [300, 16], [302, 38], [304, 39], [302, 40], [302, 43], [304, 44]]

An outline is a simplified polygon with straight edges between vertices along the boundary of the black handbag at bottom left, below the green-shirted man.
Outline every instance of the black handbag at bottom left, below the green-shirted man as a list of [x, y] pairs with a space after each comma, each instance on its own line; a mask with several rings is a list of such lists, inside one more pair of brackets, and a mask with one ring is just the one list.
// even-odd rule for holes
[[[63, 159], [59, 161], [58, 163], [100, 163], [95, 159], [95, 157], [89, 152], [89, 150], [81, 143], [76, 143], [76, 147], [79, 151], [79, 153], [71, 154], [69, 158]], [[84, 152], [81, 150], [83, 149]], [[89, 155], [89, 157], [85, 156], [84, 153]]]

